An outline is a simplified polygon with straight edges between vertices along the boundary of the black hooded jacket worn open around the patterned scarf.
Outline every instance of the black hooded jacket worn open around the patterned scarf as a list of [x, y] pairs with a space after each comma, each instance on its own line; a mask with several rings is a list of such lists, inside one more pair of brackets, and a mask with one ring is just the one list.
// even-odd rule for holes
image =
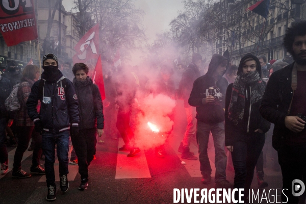
[[[252, 54], [246, 54], [240, 60], [237, 75], [239, 73], [243, 72], [242, 71], [243, 62], [247, 58], [253, 58], [256, 61], [256, 65], [257, 65], [256, 70], [259, 72], [259, 75], [261, 77], [261, 74], [262, 74], [261, 70], [262, 69], [261, 69], [261, 66], [260, 66], [260, 62], [259, 62], [258, 58], [253, 56]], [[266, 87], [266, 83], [264, 81], [263, 81], [263, 83]], [[257, 103], [253, 104], [250, 107], [250, 100], [247, 100], [247, 98], [249, 98], [249, 99], [251, 98], [250, 97], [250, 92], [246, 91], [246, 90], [249, 90], [248, 85], [246, 85], [245, 92], [244, 92], [244, 95], [246, 97], [245, 97], [244, 115], [243, 115], [242, 122], [235, 125], [232, 121], [230, 121], [228, 119], [228, 106], [230, 106], [230, 102], [231, 102], [233, 85], [234, 84], [228, 85], [227, 90], [226, 90], [226, 96], [225, 96], [225, 121], [224, 121], [225, 146], [233, 145], [235, 140], [248, 141], [248, 138], [245, 137], [245, 136], [253, 134], [254, 131], [257, 130], [257, 129], [262, 130], [264, 133], [268, 132], [268, 130], [270, 129], [270, 122], [265, 120], [261, 116], [260, 111], [259, 111], [260, 104], [261, 104], [262, 100], [257, 101]], [[250, 111], [250, 108], [251, 108], [251, 111]], [[249, 113], [250, 113], [250, 117], [249, 117]], [[248, 123], [249, 123], [249, 131], [247, 132]]]

